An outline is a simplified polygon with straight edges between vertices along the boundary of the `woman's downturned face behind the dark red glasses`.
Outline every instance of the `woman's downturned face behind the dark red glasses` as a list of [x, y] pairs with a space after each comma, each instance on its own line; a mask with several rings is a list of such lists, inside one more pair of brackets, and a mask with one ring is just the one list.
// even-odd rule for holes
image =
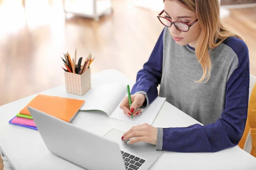
[[[190, 24], [197, 19], [194, 11], [189, 10], [177, 0], [166, 0], [164, 2], [164, 10], [165, 12], [161, 16], [165, 16], [172, 22], [182, 21]], [[189, 31], [187, 32], [178, 30], [173, 24], [171, 27], [169, 27], [169, 32], [178, 45], [189, 44], [192, 47], [196, 46], [200, 31], [201, 27], [199, 21], [190, 27]]]

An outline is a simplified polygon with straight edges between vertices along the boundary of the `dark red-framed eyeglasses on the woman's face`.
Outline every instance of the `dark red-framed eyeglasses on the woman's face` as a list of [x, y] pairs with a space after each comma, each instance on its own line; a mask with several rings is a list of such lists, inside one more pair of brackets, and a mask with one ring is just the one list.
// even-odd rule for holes
[[183, 32], [187, 32], [189, 31], [189, 28], [192, 27], [197, 21], [198, 19], [196, 19], [195, 21], [193, 21], [192, 23], [188, 24], [188, 23], [183, 23], [183, 22], [172, 22], [171, 20], [169, 20], [166, 17], [162, 17], [160, 15], [162, 15], [164, 12], [164, 10], [162, 12], [160, 12], [160, 14], [158, 14], [157, 18], [158, 20], [166, 27], [171, 27], [172, 24], [174, 24], [174, 26]]

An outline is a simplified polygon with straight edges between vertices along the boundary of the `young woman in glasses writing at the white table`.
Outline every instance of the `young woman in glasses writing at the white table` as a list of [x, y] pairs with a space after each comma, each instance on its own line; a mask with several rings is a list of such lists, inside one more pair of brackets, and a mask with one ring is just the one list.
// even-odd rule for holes
[[[203, 124], [132, 127], [122, 140], [148, 142], [157, 150], [216, 152], [237, 145], [244, 132], [249, 98], [249, 56], [241, 37], [221, 24], [218, 0], [164, 0], [157, 16], [165, 26], [137, 74], [132, 105], [137, 116], [158, 95]], [[137, 110], [137, 111], [135, 111]], [[121, 137], [121, 136], [120, 136]]]

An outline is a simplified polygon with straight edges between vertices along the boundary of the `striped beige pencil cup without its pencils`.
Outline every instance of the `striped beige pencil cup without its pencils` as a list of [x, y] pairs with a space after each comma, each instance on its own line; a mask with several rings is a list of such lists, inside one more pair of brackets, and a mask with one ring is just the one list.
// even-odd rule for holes
[[90, 68], [81, 75], [65, 71], [65, 85], [67, 93], [83, 96], [91, 88]]

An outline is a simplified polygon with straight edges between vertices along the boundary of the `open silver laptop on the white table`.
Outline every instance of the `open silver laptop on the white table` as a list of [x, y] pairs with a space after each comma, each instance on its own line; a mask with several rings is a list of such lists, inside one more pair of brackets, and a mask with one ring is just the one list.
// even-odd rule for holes
[[147, 170], [163, 153], [153, 144], [123, 142], [124, 132], [118, 129], [99, 136], [35, 108], [28, 109], [47, 149], [87, 170]]

